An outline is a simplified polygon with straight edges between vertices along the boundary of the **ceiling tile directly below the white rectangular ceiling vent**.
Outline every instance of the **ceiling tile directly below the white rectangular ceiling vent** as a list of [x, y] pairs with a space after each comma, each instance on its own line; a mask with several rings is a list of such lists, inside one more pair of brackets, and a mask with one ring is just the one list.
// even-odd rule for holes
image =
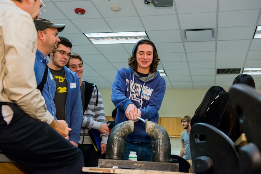
[[205, 41], [205, 42], [185, 42], [185, 47], [187, 52], [206, 52], [216, 50], [215, 41]]

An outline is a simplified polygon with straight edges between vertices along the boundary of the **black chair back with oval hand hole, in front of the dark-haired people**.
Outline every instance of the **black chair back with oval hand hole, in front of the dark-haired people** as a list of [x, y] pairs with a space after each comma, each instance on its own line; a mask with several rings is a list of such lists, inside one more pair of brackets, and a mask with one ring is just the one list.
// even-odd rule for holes
[[[199, 136], [204, 138], [199, 139]], [[190, 131], [190, 151], [194, 173], [239, 172], [239, 158], [234, 142], [210, 124], [193, 125]]]

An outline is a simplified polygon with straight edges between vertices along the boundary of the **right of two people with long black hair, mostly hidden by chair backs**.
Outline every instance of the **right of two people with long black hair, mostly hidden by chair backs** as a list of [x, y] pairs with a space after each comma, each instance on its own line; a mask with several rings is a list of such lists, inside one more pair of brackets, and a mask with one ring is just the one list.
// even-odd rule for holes
[[[233, 84], [246, 84], [255, 88], [255, 82], [252, 76], [247, 74], [238, 75]], [[242, 134], [239, 119], [234, 106], [229, 98], [229, 92], [220, 94], [209, 106], [204, 123], [217, 127], [223, 133], [228, 135], [232, 141], [236, 141]]]

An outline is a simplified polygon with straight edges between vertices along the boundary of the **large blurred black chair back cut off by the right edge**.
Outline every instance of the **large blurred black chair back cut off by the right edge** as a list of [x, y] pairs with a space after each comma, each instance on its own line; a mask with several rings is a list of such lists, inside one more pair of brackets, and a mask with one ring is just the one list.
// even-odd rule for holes
[[230, 99], [248, 142], [239, 150], [240, 173], [261, 173], [261, 94], [245, 84], [234, 84]]

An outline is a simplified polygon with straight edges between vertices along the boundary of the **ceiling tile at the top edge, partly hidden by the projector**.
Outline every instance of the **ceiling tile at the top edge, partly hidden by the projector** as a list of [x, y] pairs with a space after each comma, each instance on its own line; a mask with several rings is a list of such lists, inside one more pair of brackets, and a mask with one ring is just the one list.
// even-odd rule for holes
[[144, 4], [144, 1], [133, 1], [140, 16], [154, 15], [175, 15], [174, 6], [172, 7], [154, 7], [153, 4]]

